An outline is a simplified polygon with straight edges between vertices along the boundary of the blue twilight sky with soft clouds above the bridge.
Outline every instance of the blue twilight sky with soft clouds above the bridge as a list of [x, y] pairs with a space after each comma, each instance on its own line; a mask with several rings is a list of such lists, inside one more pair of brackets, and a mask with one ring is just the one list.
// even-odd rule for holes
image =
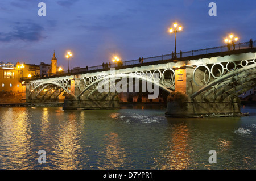
[[[39, 16], [39, 2], [46, 16]], [[209, 16], [210, 2], [217, 16]], [[101, 65], [116, 55], [123, 61], [216, 47], [229, 33], [240, 42], [256, 40], [255, 0], [1, 0], [0, 61], [51, 63], [53, 51], [65, 70]], [[28, 61], [29, 60], [29, 61]]]

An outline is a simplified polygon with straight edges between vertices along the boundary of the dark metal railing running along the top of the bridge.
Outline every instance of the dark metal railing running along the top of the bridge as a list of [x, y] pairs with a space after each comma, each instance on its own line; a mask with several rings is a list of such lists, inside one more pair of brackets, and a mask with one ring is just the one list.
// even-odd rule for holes
[[[244, 43], [236, 43], [234, 50], [248, 49], [248, 48], [250, 48], [249, 45], [250, 45], [249, 41], [244, 42]], [[253, 41], [253, 47], [256, 47], [256, 41]], [[231, 51], [233, 50], [232, 45], [230, 46], [230, 49], [231, 49]], [[227, 52], [227, 51], [228, 51], [227, 45], [222, 45], [219, 47], [190, 50], [187, 52], [177, 52], [177, 58], [193, 57], [193, 56], [198, 56], [198, 55], [203, 55], [203, 54]], [[173, 59], [172, 54], [164, 54], [162, 56], [143, 58], [143, 63], [155, 62], [155, 61], [161, 61], [161, 60], [172, 60], [172, 59]], [[107, 68], [117, 68], [118, 66], [127, 66], [127, 65], [135, 65], [135, 64], [139, 64], [139, 58], [136, 60], [123, 61], [122, 65], [118, 65], [117, 63], [114, 62], [114, 63], [108, 64], [108, 67], [103, 66], [103, 65], [90, 66], [88, 68], [73, 69], [73, 70], [70, 70], [69, 73], [67, 70], [67, 71], [61, 71], [61, 72], [54, 73], [54, 74], [48, 74], [48, 75], [44, 75], [44, 77], [55, 77], [55, 76], [59, 77], [59, 76], [65, 76], [65, 75], [69, 75], [69, 74], [86, 73], [87, 71], [101, 70], [101, 69], [107, 69]], [[44, 77], [42, 77], [42, 75], [38, 75], [36, 77], [35, 76], [34, 77], [23, 77], [22, 80], [26, 81], [26, 80], [32, 80], [32, 79], [38, 79], [38, 78], [44, 78]]]

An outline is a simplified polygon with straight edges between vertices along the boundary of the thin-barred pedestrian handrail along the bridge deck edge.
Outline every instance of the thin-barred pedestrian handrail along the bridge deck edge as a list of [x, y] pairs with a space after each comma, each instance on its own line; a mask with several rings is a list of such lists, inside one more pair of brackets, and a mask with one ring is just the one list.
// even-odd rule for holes
[[[237, 49], [245, 49], [245, 48], [249, 48], [248, 47], [249, 44], [250, 44], [250, 41], [243, 42], [243, 43], [236, 43], [235, 47], [236, 47], [236, 50]], [[255, 47], [255, 44], [256, 44], [256, 40], [253, 41], [253, 47]], [[246, 46], [244, 46], [244, 45], [246, 45]], [[238, 48], [237, 48], [237, 46], [238, 46]], [[181, 57], [189, 57], [189, 56], [208, 54], [209, 50], [220, 50], [221, 49], [221, 51], [217, 51], [217, 52], [226, 52], [227, 50], [224, 51], [224, 48], [227, 48], [227, 47], [228, 47], [227, 45], [221, 45], [221, 46], [218, 46], [218, 47], [210, 47], [210, 48], [204, 48], [204, 49], [189, 50], [189, 51], [181, 52], [181, 53], [177, 52], [176, 54], [177, 54], [177, 56], [179, 56], [179, 58], [181, 58]], [[232, 49], [232, 47], [230, 49]], [[199, 53], [197, 53], [197, 52], [199, 52]], [[217, 53], [217, 52], [210, 52], [210, 53]], [[187, 55], [187, 56], [183, 56], [183, 55]], [[162, 56], [146, 57], [146, 58], [143, 58], [143, 60], [145, 62], [160, 61], [159, 60], [160, 57], [162, 57], [162, 60], [171, 60], [171, 59], [173, 59], [172, 54], [164, 54]], [[148, 60], [150, 60], [150, 61], [148, 61]], [[132, 64], [130, 64], [130, 63], [132, 63]], [[126, 65], [134, 65], [134, 64], [139, 64], [139, 59], [123, 61], [123, 65], [125, 65], [125, 66]], [[118, 65], [116, 63], [112, 63], [112, 64], [108, 65], [108, 68], [117, 68], [117, 67], [118, 67]], [[96, 65], [96, 66], [90, 66], [90, 67], [88, 67], [88, 69], [86, 69], [86, 68], [74, 69], [74, 70], [71, 70], [70, 73], [71, 74], [81, 73], [81, 72], [85, 72], [85, 71], [92, 71], [92, 70], [98, 70], [98, 69], [106, 69], [106, 68], [104, 68], [102, 65]], [[63, 75], [63, 76], [64, 75], [69, 75], [68, 70], [61, 71], [61, 72], [55, 73], [55, 74], [50, 74], [50, 75], [47, 75], [46, 77], [54, 77], [54, 76], [60, 76], [60, 75]], [[26, 80], [32, 80], [32, 79], [37, 79], [37, 78], [42, 78], [42, 77], [23, 77], [22, 80], [26, 81]]]

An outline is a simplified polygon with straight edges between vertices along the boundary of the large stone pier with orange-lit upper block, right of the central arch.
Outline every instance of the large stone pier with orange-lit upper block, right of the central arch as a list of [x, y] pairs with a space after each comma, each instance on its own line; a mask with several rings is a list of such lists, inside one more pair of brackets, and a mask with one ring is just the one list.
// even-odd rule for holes
[[[193, 77], [195, 67], [181, 66], [175, 69], [175, 91], [168, 96], [166, 117], [194, 117], [210, 114], [237, 114], [240, 113], [240, 100], [237, 96], [228, 96], [223, 100], [204, 99], [201, 96], [193, 98], [193, 92], [199, 91], [200, 86], [195, 82], [204, 82], [205, 71]], [[205, 77], [206, 76], [206, 77]], [[195, 79], [194, 79], [195, 78]], [[202, 80], [203, 79], [203, 80]], [[195, 80], [195, 81], [194, 81]]]

